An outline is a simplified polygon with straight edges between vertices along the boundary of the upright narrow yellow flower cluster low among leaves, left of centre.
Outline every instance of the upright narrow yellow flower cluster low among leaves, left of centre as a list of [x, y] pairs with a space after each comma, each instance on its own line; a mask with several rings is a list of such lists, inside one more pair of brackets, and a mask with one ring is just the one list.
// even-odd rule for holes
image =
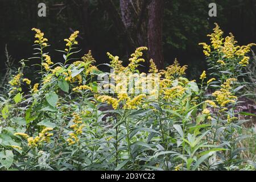
[[82, 118], [79, 114], [73, 113], [72, 115], [74, 124], [69, 126], [73, 130], [73, 132], [69, 134], [69, 138], [67, 139], [69, 145], [79, 142], [78, 135], [82, 134], [82, 129], [85, 127], [85, 124], [82, 123]]

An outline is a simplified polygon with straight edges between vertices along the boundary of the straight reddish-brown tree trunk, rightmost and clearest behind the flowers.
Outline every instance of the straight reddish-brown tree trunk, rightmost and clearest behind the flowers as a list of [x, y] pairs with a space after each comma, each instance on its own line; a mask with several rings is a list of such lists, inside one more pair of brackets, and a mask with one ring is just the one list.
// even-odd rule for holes
[[163, 69], [163, 0], [152, 0], [148, 6], [148, 16], [148, 53], [158, 69]]

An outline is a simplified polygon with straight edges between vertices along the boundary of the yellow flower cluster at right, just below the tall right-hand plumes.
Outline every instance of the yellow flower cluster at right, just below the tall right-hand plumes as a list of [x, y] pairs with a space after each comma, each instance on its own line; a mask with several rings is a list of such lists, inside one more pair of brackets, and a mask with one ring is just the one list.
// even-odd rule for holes
[[218, 104], [221, 107], [225, 107], [227, 104], [235, 103], [237, 100], [236, 96], [230, 92], [232, 89], [233, 82], [236, 81], [236, 78], [229, 78], [221, 85], [221, 89], [214, 92], [212, 95], [216, 97]]

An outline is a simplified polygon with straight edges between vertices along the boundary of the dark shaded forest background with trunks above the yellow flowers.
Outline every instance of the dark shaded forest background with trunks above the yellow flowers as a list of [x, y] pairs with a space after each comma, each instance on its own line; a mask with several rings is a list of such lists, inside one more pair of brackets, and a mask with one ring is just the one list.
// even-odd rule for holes
[[[47, 5], [46, 17], [38, 16], [40, 2]], [[217, 3], [217, 17], [208, 15], [211, 2]], [[63, 39], [79, 30], [80, 54], [92, 50], [98, 64], [108, 63], [106, 52], [126, 63], [135, 47], [147, 46], [147, 57], [159, 68], [177, 57], [195, 78], [205, 68], [198, 43], [209, 42], [214, 22], [226, 35], [233, 32], [239, 44], [256, 42], [256, 0], [0, 0], [0, 22], [1, 75], [6, 44], [16, 67], [20, 59], [32, 57], [31, 28], [36, 27], [52, 45], [49, 52], [55, 63], [63, 57], [54, 49], [64, 49]]]

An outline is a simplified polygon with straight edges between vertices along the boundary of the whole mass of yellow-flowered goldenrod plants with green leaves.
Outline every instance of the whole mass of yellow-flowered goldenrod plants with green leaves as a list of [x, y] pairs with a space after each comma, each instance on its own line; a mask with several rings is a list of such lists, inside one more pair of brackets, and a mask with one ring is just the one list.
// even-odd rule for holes
[[32, 30], [39, 56], [29, 60], [40, 66], [39, 79], [28, 80], [22, 60], [1, 96], [0, 169], [254, 168], [238, 144], [251, 136], [234, 135], [246, 122], [236, 112], [237, 91], [254, 44], [235, 46], [216, 25], [212, 45], [202, 44], [210, 69], [197, 84], [177, 59], [165, 70], [150, 60], [150, 71], [141, 73], [147, 47], [137, 48], [127, 66], [108, 52], [112, 71], [102, 72], [90, 51], [73, 58], [79, 31], [64, 39], [65, 50], [57, 50], [64, 60], [56, 63], [43, 32]]

